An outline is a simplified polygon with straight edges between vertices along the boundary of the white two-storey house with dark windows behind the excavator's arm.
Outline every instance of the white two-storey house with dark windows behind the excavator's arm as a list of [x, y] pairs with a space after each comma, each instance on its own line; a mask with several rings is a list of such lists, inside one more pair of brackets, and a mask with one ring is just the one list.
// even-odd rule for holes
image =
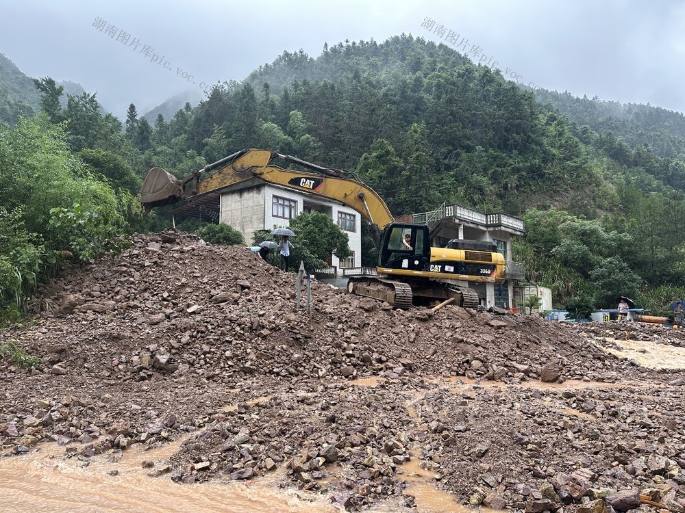
[[[362, 226], [360, 215], [349, 207], [321, 196], [299, 192], [288, 187], [251, 179], [208, 194], [173, 211], [179, 215], [201, 216], [236, 228], [247, 244], [257, 230], [273, 230], [274, 226], [288, 227], [290, 220], [302, 212], [322, 212], [332, 218], [349, 237], [352, 256], [340, 261], [329, 255], [328, 265], [338, 273], [345, 267], [362, 265]], [[293, 239], [297, 246], [297, 237]]]

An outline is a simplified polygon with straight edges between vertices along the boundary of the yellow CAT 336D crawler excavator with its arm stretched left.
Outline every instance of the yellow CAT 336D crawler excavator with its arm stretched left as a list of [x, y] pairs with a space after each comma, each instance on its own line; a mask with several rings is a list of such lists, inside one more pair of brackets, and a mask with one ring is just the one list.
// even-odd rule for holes
[[[307, 171], [286, 169], [279, 159]], [[177, 179], [152, 168], [140, 189], [146, 211], [197, 198], [249, 179], [323, 196], [362, 215], [378, 249], [377, 276], [349, 278], [350, 293], [383, 300], [397, 308], [412, 302], [448, 300], [463, 307], [478, 306], [469, 282], [504, 281], [504, 258], [492, 242], [453, 239], [447, 248], [430, 246], [426, 224], [395, 222], [385, 202], [352, 172], [316, 166], [269, 150], [246, 149]]]

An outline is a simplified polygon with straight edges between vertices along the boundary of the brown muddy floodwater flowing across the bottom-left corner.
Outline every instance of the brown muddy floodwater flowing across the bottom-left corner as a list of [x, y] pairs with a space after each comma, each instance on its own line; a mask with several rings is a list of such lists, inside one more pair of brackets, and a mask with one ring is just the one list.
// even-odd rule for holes
[[[163, 450], [163, 449], [162, 449]], [[153, 479], [140, 457], [119, 463], [93, 458], [88, 465], [55, 456], [55, 448], [0, 459], [0, 512], [33, 513], [334, 513], [340, 509], [314, 495], [268, 484], [174, 484]], [[143, 453], [141, 453], [143, 454]], [[153, 451], [145, 458], [153, 457]], [[116, 470], [117, 475], [110, 475]]]

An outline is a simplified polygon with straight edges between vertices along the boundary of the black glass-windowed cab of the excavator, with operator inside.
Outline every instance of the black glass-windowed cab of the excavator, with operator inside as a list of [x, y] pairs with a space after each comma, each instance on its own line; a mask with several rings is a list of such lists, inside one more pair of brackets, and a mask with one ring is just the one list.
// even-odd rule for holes
[[387, 269], [427, 271], [430, 235], [425, 224], [391, 223], [386, 226], [378, 266]]

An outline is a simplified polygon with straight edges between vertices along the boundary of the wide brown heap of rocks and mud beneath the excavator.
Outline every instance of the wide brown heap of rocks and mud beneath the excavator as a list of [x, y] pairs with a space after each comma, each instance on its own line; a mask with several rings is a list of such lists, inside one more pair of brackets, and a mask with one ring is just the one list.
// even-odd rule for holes
[[400, 311], [316, 282], [307, 315], [293, 274], [177, 232], [71, 269], [36, 304], [34, 326], [0, 336], [42, 360], [0, 362], [0, 443], [14, 452], [184, 439], [150, 475], [282, 469], [351, 509], [411, 506], [403, 473], [420, 458], [436, 486], [492, 508], [623, 510], [612, 494], [630, 488], [626, 504], [642, 490], [681, 511], [682, 389], [665, 383], [682, 373], [606, 354], [592, 327]]

